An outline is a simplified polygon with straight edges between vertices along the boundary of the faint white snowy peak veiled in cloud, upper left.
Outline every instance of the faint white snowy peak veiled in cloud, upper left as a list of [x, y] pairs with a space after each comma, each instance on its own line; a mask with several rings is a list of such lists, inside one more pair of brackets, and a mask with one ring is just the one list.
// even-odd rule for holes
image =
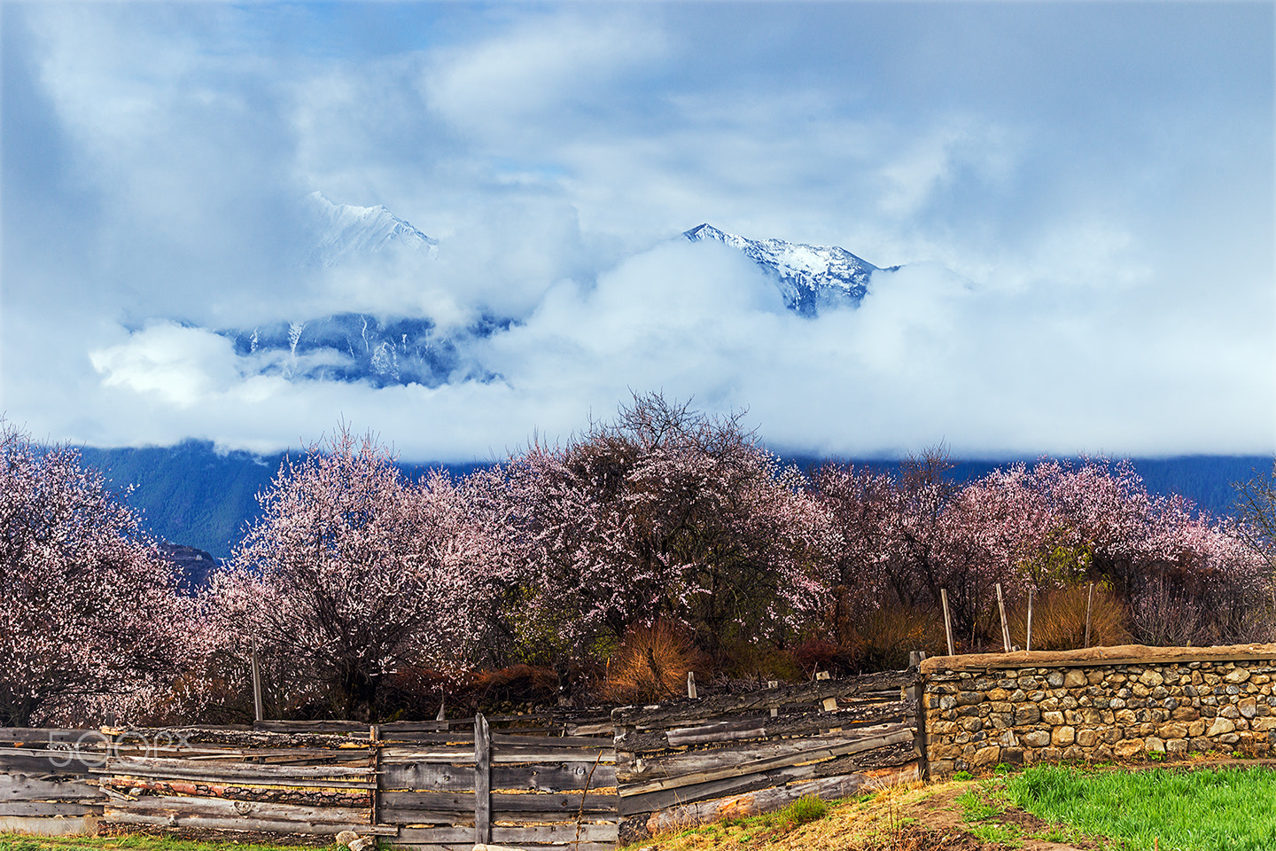
[[382, 205], [334, 204], [323, 193], [310, 193], [305, 200], [315, 240], [304, 265], [332, 267], [351, 256], [390, 248], [425, 250], [431, 258], [439, 253], [438, 240]]

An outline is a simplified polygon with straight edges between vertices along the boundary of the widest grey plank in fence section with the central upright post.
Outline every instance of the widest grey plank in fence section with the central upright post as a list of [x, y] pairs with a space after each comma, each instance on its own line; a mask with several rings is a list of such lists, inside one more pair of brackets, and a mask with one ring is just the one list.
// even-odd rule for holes
[[[560, 792], [584, 788], [588, 776], [590, 766], [581, 762], [540, 766], [494, 764], [491, 767], [491, 788]], [[609, 788], [615, 785], [615, 766], [602, 764], [595, 769], [592, 782], [595, 788]], [[435, 792], [473, 791], [473, 764], [383, 766], [380, 788], [403, 791], [422, 790]]]

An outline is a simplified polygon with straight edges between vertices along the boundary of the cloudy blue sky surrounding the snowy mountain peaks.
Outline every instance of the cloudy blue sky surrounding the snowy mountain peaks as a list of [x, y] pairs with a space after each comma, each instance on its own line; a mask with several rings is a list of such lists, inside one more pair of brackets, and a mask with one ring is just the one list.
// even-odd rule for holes
[[[0, 4], [0, 411], [41, 440], [503, 457], [661, 392], [777, 452], [1276, 452], [1270, 3]], [[305, 196], [433, 259], [296, 262]], [[679, 235], [898, 272], [783, 309]], [[424, 318], [486, 378], [267, 374]]]

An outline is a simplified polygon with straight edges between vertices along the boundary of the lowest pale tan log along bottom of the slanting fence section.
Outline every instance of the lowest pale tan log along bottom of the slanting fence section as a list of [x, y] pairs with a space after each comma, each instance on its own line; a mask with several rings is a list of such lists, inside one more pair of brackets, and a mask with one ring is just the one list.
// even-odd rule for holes
[[712, 801], [701, 801], [674, 806], [658, 813], [652, 813], [647, 819], [647, 831], [652, 836], [667, 831], [684, 829], [694, 824], [704, 824], [727, 818], [745, 818], [782, 809], [806, 795], [814, 795], [824, 800], [837, 800], [860, 795], [865, 791], [877, 791], [900, 783], [911, 783], [920, 780], [916, 763], [894, 768], [860, 772], [855, 774], [840, 774], [820, 780], [763, 788], [755, 792], [720, 797]]

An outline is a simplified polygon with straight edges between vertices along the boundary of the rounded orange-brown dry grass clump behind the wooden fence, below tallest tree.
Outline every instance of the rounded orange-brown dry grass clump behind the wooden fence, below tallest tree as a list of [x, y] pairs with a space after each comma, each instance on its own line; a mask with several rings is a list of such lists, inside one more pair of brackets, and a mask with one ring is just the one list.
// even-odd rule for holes
[[686, 695], [686, 674], [704, 675], [704, 656], [690, 632], [656, 621], [632, 626], [607, 660], [600, 697], [612, 703], [651, 703]]

